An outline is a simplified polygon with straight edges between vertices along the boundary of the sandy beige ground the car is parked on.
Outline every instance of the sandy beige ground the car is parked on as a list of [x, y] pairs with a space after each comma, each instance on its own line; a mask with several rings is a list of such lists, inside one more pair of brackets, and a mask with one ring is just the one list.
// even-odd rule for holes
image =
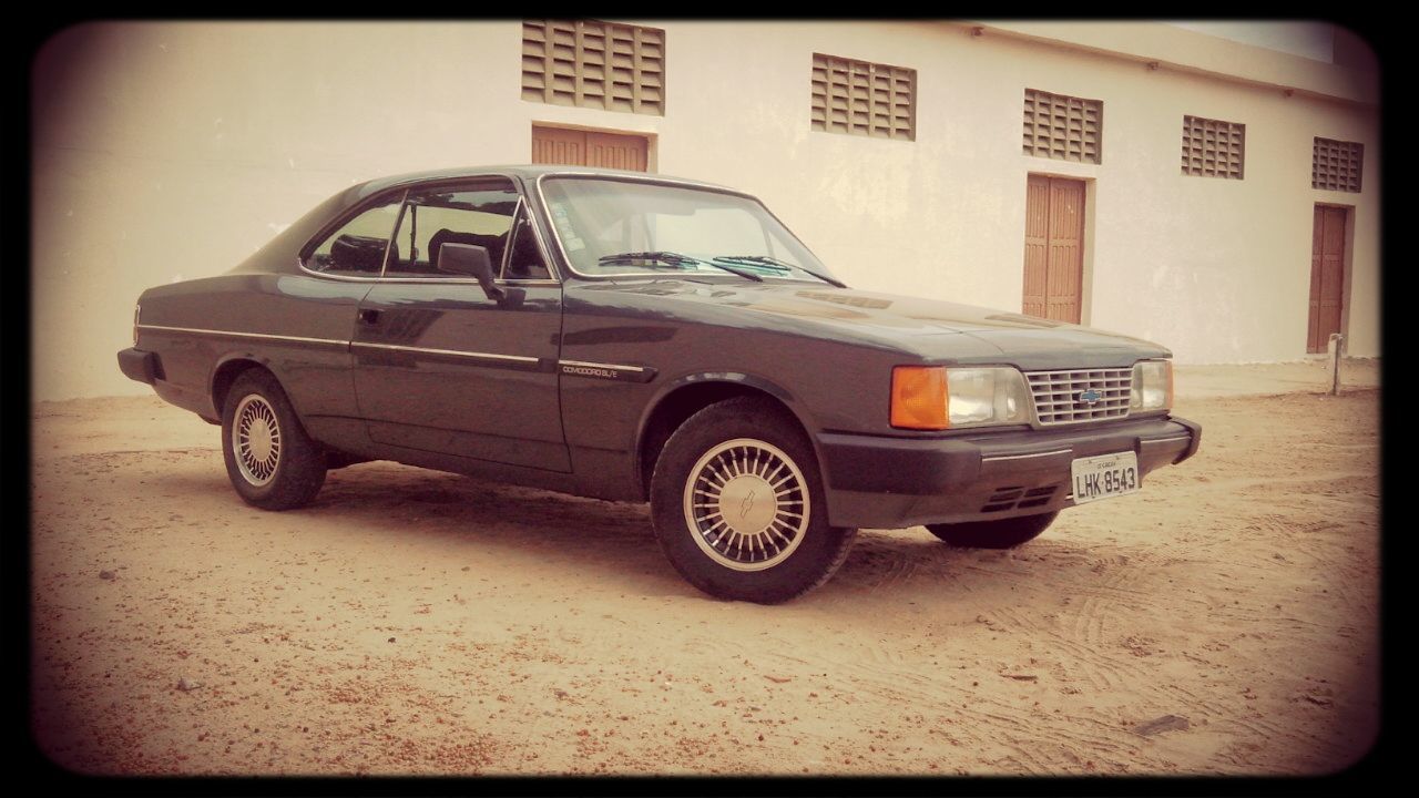
[[368, 463], [264, 513], [183, 410], [40, 403], [35, 741], [101, 774], [1337, 771], [1379, 723], [1378, 382], [1181, 368], [1202, 450], [1142, 493], [1007, 552], [864, 530], [783, 606], [698, 594], [640, 505]]

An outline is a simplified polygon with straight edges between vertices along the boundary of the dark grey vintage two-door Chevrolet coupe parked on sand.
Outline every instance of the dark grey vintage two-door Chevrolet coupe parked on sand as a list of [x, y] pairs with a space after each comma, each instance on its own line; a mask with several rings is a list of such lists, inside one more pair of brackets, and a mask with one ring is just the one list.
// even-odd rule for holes
[[460, 169], [339, 192], [226, 274], [150, 288], [128, 376], [221, 425], [250, 504], [396, 460], [650, 501], [670, 562], [780, 602], [858, 527], [1005, 548], [1191, 457], [1155, 344], [839, 281], [755, 197]]

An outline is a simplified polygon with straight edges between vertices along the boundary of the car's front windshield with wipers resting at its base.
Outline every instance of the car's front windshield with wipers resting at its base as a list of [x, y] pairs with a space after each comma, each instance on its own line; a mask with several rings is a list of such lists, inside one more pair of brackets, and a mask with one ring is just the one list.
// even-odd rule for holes
[[731, 271], [830, 278], [813, 253], [748, 197], [593, 177], [548, 177], [542, 196], [572, 268], [586, 275]]

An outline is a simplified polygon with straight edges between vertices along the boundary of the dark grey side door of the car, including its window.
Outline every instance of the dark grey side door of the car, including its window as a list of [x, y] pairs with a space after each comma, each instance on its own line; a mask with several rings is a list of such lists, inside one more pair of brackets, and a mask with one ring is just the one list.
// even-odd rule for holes
[[[570, 471], [558, 396], [562, 287], [512, 180], [412, 189], [352, 351], [369, 436], [385, 444]], [[507, 297], [437, 270], [444, 243], [488, 248]]]

